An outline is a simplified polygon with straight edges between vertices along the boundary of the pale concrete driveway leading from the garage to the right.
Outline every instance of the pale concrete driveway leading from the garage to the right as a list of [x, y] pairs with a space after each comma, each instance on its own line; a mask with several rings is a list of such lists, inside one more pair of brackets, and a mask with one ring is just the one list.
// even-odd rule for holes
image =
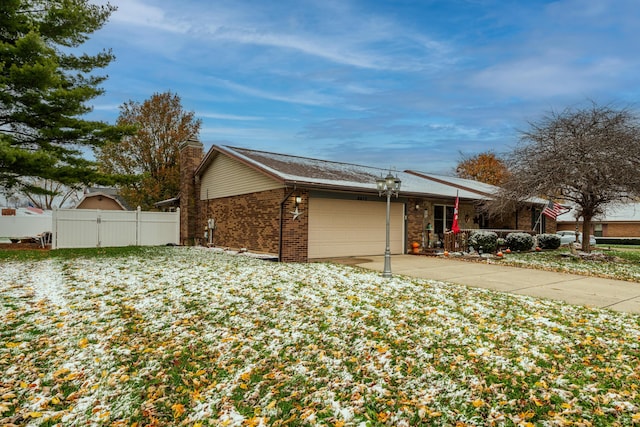
[[[348, 263], [382, 271], [384, 257], [355, 258]], [[570, 304], [640, 313], [640, 283], [415, 255], [392, 256], [391, 271], [393, 274], [561, 300]]]

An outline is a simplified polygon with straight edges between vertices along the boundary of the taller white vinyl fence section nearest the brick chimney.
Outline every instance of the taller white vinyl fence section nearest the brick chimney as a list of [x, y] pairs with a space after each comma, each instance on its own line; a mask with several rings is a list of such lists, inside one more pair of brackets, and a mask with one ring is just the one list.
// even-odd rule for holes
[[53, 211], [52, 249], [109, 246], [177, 245], [177, 212], [56, 209]]

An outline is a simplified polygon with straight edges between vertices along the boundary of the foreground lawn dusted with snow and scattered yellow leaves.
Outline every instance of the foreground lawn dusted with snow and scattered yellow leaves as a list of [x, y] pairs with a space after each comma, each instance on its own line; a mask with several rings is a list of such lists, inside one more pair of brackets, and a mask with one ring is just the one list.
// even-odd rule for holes
[[196, 248], [0, 270], [0, 425], [640, 423], [637, 315]]

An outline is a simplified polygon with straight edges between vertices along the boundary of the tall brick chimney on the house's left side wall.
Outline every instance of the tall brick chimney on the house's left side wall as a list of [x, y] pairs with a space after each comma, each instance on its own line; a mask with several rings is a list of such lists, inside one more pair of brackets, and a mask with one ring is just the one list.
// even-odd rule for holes
[[195, 137], [180, 144], [180, 243], [194, 245], [197, 230], [199, 185], [194, 172], [202, 162], [204, 147]]

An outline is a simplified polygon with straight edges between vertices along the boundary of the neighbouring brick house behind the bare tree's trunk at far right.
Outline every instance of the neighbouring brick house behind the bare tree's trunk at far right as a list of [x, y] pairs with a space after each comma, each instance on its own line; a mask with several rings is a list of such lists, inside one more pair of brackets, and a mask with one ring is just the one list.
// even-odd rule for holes
[[[582, 218], [576, 223], [575, 209], [558, 216], [558, 230], [582, 231]], [[591, 222], [591, 233], [596, 237], [640, 237], [640, 203], [608, 206], [604, 215]]]

